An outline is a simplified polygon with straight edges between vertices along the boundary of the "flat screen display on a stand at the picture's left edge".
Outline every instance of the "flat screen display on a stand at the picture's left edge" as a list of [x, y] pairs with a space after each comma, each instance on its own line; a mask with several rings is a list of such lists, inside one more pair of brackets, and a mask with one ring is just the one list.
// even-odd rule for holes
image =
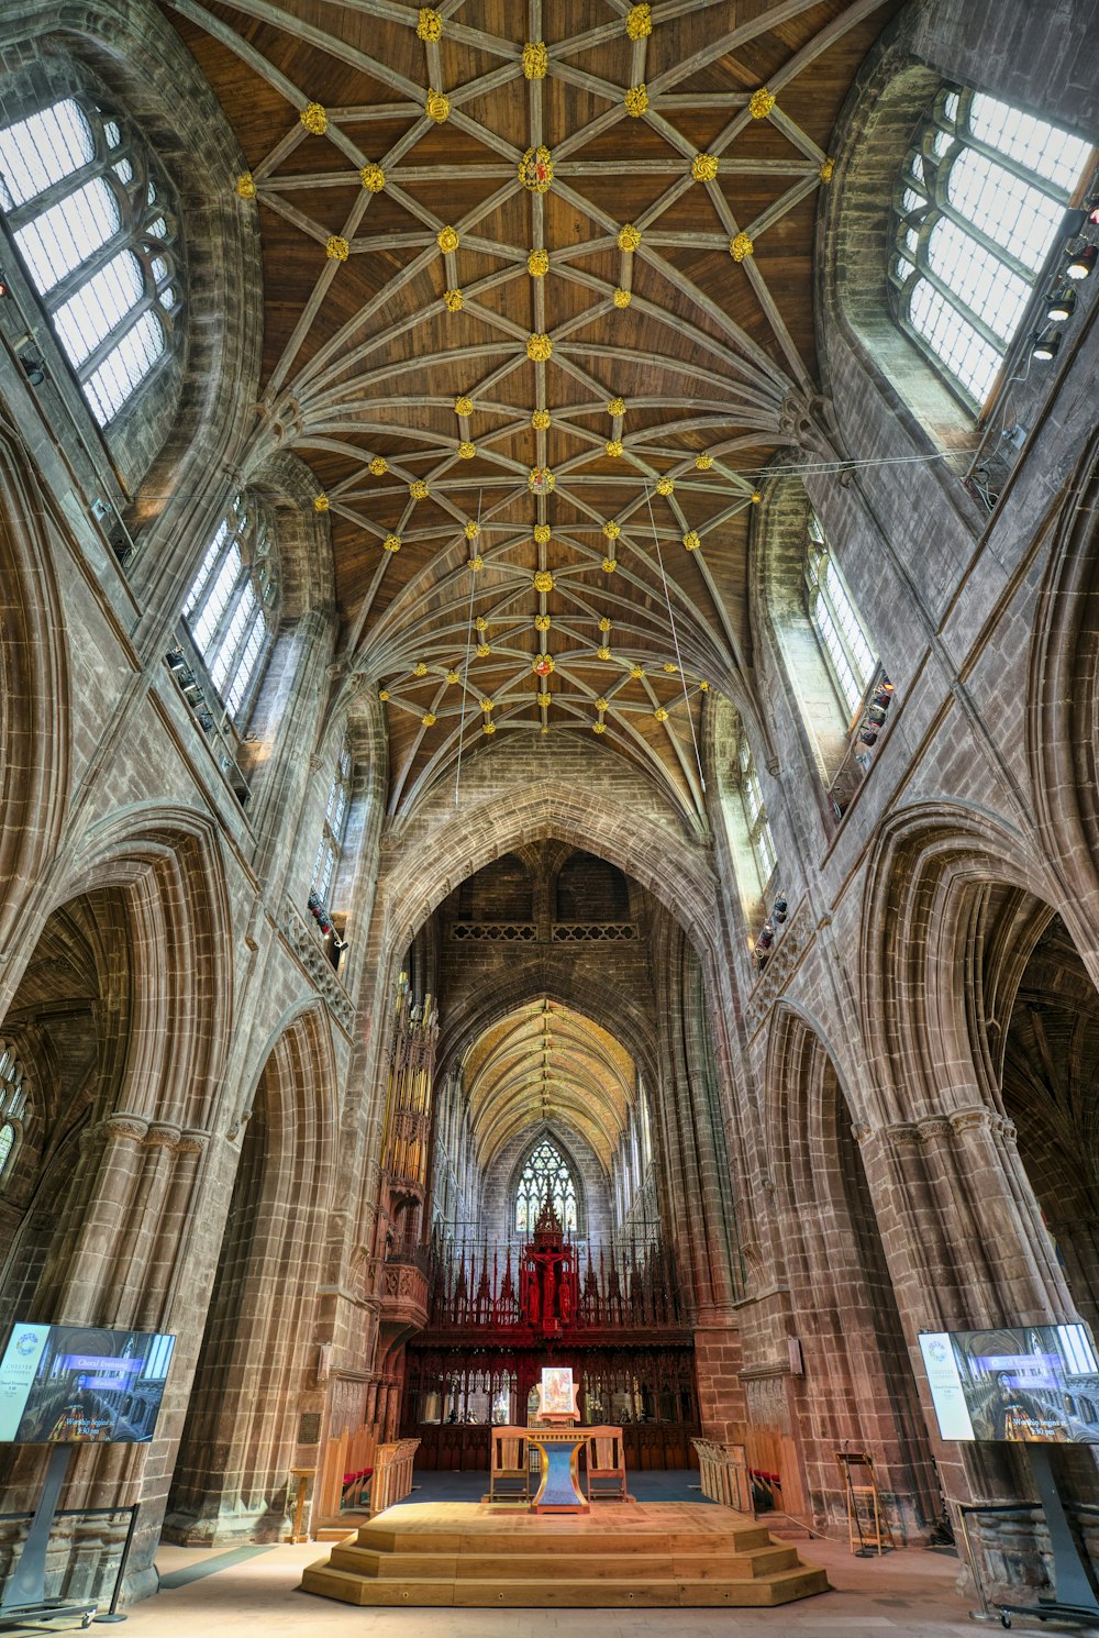
[[175, 1337], [16, 1324], [0, 1361], [0, 1441], [144, 1445]]

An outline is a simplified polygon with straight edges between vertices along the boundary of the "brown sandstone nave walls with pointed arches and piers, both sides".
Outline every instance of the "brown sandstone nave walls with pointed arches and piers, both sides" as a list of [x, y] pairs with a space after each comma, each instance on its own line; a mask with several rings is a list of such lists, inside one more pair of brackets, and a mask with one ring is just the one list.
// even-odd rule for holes
[[[141, 455], [152, 464], [133, 500], [88, 455], [79, 403], [62, 418], [33, 393], [0, 313], [0, 1001], [38, 1122], [0, 1176], [0, 1304], [180, 1338], [157, 1440], [118, 1461], [82, 1451], [67, 1505], [141, 1500], [131, 1590], [144, 1592], [172, 1486], [180, 1538], [278, 1536], [288, 1468], [314, 1464], [329, 1427], [395, 1419], [377, 1214], [395, 981], [418, 935], [445, 1001], [441, 1075], [488, 1020], [545, 994], [588, 1009], [634, 1057], [657, 1202], [699, 1314], [709, 1432], [788, 1420], [822, 1522], [840, 1507], [843, 1441], [876, 1453], [912, 1530], [938, 1514], [937, 1477], [953, 1500], [1027, 1494], [1009, 1450], [938, 1441], [919, 1332], [1066, 1319], [1099, 1291], [1092, 1225], [1061, 1263], [1040, 1209], [1058, 1156], [1078, 1166], [1094, 1150], [1094, 1089], [1078, 1073], [1058, 1102], [1058, 1042], [1045, 1061], [1019, 1011], [1070, 986], [1070, 1011], [1091, 1019], [1099, 981], [1094, 308], [1035, 388], [989, 513], [961, 464], [940, 459], [971, 429], [919, 359], [891, 373], [899, 339], [873, 346], [878, 319], [842, 246], [876, 254], [860, 144], [876, 131], [888, 146], [891, 121], [899, 139], [901, 115], [881, 103], [898, 74], [970, 79], [1088, 128], [1099, 8], [1040, 18], [1024, 0], [917, 0], [845, 110], [817, 311], [821, 387], [855, 465], [798, 462], [898, 693], [868, 776], [829, 822], [834, 724], [819, 672], [796, 708], [806, 632], [783, 624], [791, 563], [767, 560], [783, 501], [768, 488], [752, 547], [755, 698], [737, 701], [791, 906], [763, 971], [722, 809], [732, 706], [716, 690], [708, 826], [690, 827], [624, 760], [536, 732], [473, 752], [457, 811], [434, 791], [385, 821], [382, 713], [334, 662], [331, 544], [305, 509], [308, 472], [249, 465], [257, 256], [251, 206], [231, 198], [229, 131], [201, 87], [193, 105], [157, 102], [174, 59], [169, 43], [167, 66], [149, 67], [165, 29], [154, 8], [62, 10], [74, 51], [102, 67], [128, 43], [149, 69], [134, 111], [167, 144], [195, 290], [180, 416]], [[5, 61], [59, 16], [5, 8]], [[229, 468], [283, 508], [296, 565], [246, 804], [164, 663]], [[97, 498], [139, 536], [124, 572]], [[349, 726], [337, 975], [305, 898]], [[590, 898], [596, 919], [626, 883], [642, 937], [459, 958], [445, 927], [464, 883], [545, 848], [557, 868], [585, 855], [570, 904]], [[550, 878], [536, 878], [531, 916], [549, 921]], [[509, 867], [506, 919], [516, 883]], [[483, 916], [491, 880], [480, 886], [467, 909]], [[1071, 953], [1056, 965], [1035, 962], [1053, 914]], [[1065, 1482], [1094, 1497], [1089, 1463], [1066, 1461]], [[23, 1507], [39, 1477], [34, 1451], [8, 1456], [5, 1505]], [[994, 1576], [1006, 1564], [988, 1559]]]

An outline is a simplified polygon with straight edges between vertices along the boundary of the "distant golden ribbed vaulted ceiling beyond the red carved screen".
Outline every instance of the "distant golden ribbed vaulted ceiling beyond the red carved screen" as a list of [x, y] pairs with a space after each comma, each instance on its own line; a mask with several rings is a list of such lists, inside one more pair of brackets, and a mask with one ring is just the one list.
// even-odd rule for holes
[[609, 1171], [637, 1096], [629, 1053], [555, 1001], [518, 1007], [485, 1030], [462, 1076], [482, 1171], [518, 1132], [540, 1125], [578, 1132]]

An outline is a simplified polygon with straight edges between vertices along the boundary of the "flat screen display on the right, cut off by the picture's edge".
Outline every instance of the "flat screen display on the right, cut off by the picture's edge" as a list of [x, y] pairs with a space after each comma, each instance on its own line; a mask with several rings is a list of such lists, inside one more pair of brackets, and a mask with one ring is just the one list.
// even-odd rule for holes
[[1099, 1356], [1088, 1325], [925, 1332], [920, 1350], [943, 1438], [1099, 1445]]

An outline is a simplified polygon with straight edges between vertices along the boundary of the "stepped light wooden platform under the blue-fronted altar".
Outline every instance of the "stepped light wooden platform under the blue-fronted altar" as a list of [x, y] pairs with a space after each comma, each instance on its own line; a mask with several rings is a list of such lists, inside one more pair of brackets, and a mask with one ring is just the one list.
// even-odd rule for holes
[[362, 1525], [308, 1566], [301, 1587], [362, 1605], [767, 1609], [829, 1582], [727, 1507], [599, 1502], [586, 1517], [534, 1517], [421, 1502]]

